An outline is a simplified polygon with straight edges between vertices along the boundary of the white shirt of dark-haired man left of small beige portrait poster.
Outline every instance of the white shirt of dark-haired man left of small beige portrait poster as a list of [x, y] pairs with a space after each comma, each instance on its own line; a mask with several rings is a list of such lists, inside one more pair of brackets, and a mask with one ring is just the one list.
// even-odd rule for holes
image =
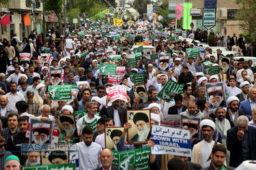
[[79, 169], [92, 170], [101, 166], [99, 157], [102, 148], [98, 143], [91, 142], [91, 145], [87, 146], [82, 141], [75, 143], [72, 148], [79, 152]]

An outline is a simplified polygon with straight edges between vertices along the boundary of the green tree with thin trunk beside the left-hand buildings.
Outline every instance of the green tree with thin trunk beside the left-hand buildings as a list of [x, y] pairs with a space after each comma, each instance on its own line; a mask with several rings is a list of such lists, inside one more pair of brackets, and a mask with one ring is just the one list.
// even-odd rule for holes
[[62, 0], [45, 0], [44, 1], [44, 9], [48, 12], [54, 12], [58, 18], [59, 22], [59, 33], [62, 35], [62, 22], [61, 22], [61, 14], [62, 14]]

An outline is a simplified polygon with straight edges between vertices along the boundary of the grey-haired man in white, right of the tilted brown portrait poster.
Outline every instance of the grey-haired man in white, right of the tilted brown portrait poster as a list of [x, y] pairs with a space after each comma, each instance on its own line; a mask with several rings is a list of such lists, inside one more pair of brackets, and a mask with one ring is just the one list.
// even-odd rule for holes
[[97, 114], [97, 104], [94, 102], [87, 103], [87, 115], [83, 116], [82, 118], [79, 118], [79, 120], [76, 123], [77, 132], [79, 133], [79, 136], [82, 135], [81, 130], [83, 127], [85, 127], [86, 123], [89, 124], [91, 122], [94, 122], [94, 124], [91, 125], [91, 127], [96, 126], [97, 120], [100, 119]]

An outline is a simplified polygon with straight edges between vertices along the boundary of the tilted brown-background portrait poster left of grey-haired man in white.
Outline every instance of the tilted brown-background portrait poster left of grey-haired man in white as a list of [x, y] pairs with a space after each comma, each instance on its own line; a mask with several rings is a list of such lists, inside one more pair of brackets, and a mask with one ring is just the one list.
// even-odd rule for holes
[[77, 137], [76, 119], [74, 114], [61, 114], [55, 112], [54, 116], [62, 133], [70, 135], [71, 137]]

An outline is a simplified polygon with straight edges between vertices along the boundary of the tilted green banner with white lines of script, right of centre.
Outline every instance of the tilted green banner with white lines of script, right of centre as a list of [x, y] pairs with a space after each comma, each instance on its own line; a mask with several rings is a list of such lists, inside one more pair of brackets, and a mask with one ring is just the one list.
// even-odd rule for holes
[[173, 99], [173, 95], [171, 95], [172, 92], [183, 94], [183, 86], [184, 84], [178, 84], [173, 80], [168, 80], [156, 97], [159, 97], [163, 101], [167, 101], [167, 103], [169, 103]]

